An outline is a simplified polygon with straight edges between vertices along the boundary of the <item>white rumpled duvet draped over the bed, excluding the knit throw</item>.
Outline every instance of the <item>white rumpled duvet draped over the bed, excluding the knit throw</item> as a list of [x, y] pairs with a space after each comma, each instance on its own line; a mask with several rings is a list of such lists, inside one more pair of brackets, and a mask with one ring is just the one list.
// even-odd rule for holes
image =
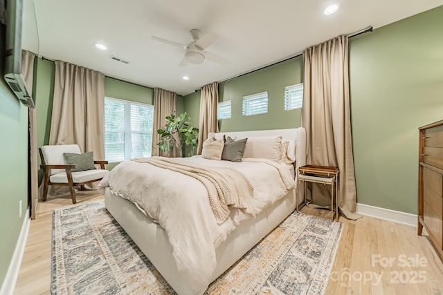
[[[256, 213], [295, 187], [293, 168], [288, 164], [261, 159], [243, 159], [243, 162], [206, 160], [198, 156], [183, 159], [208, 167], [234, 167], [244, 173], [253, 185]], [[208, 287], [216, 267], [217, 246], [239, 222], [252, 218], [239, 209], [231, 209], [230, 218], [217, 225], [208, 192], [199, 180], [147, 163], [121, 162], [98, 185], [102, 193], [105, 187], [136, 204], [165, 229], [177, 269], [195, 286], [190, 290], [192, 294], [202, 294]]]

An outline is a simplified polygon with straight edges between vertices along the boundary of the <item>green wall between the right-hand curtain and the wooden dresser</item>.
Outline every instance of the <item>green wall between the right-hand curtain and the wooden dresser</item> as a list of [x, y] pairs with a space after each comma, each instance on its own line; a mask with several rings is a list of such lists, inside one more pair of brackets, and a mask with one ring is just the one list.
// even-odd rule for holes
[[417, 213], [418, 127], [443, 119], [443, 6], [350, 42], [357, 200]]

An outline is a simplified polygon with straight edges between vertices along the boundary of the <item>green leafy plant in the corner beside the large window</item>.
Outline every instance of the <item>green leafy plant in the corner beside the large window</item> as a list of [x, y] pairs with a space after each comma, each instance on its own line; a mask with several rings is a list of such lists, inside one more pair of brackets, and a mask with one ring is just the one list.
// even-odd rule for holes
[[174, 146], [181, 149], [183, 144], [185, 146], [197, 146], [199, 129], [190, 126], [192, 122], [186, 112], [176, 116], [175, 111], [172, 111], [171, 115], [166, 116], [165, 119], [165, 129], [157, 130], [157, 133], [161, 135], [161, 140], [157, 142], [157, 145], [162, 151], [168, 151]]

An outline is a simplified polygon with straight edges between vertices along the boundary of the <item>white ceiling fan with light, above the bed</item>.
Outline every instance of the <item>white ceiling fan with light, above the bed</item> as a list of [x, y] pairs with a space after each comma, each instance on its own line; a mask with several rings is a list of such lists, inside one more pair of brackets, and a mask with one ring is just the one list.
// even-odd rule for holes
[[226, 65], [229, 63], [226, 59], [205, 50], [219, 37], [215, 32], [208, 32], [202, 36], [200, 30], [192, 29], [190, 30], [190, 33], [194, 41], [188, 45], [155, 36], [152, 36], [152, 39], [185, 49], [185, 56], [181, 59], [179, 66], [186, 66], [188, 62], [190, 64], [202, 64], [205, 59], [209, 59], [210, 61], [215, 62], [215, 64], [220, 65]]

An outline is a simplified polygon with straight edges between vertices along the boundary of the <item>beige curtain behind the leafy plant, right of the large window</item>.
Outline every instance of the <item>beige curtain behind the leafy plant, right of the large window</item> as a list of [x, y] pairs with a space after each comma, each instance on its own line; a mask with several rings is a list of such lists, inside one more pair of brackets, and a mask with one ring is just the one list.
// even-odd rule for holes
[[177, 114], [177, 94], [171, 91], [166, 91], [161, 88], [154, 88], [154, 126], [152, 135], [152, 155], [160, 155], [163, 157], [180, 157], [181, 150], [174, 146], [171, 151], [163, 152], [159, 149], [157, 142], [160, 140], [160, 135], [157, 134], [158, 129], [165, 128], [165, 117], [170, 115], [172, 111]]

